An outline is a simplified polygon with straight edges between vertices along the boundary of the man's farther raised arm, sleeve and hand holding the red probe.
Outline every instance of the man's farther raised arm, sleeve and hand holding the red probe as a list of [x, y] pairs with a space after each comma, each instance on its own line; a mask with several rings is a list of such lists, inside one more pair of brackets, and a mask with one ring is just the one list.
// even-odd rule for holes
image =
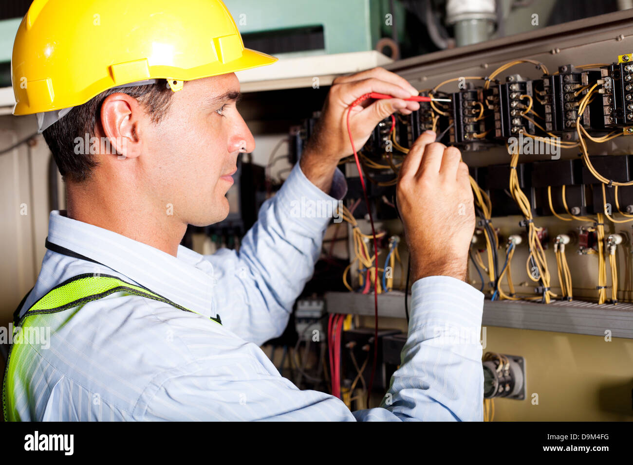
[[417, 95], [417, 90], [382, 68], [335, 79], [299, 166], [262, 206], [239, 253], [223, 250], [206, 257], [224, 278], [222, 287], [215, 288], [218, 313], [246, 340], [261, 344], [280, 335], [292, 304], [313, 273], [323, 233], [332, 221], [331, 214], [327, 218], [323, 211], [335, 212], [337, 200], [346, 192], [337, 164], [352, 153], [347, 111], [369, 92], [399, 98], [363, 101], [353, 108], [350, 127], [356, 147], [363, 146], [373, 128], [395, 111], [409, 114], [420, 108], [417, 102], [403, 100]]

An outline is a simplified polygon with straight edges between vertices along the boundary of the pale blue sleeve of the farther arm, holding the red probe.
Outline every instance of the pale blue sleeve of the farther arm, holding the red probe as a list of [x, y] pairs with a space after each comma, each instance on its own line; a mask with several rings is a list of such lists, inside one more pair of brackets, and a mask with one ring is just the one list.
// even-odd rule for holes
[[337, 168], [331, 195], [308, 180], [297, 163], [277, 195], [260, 208], [239, 252], [205, 258], [218, 278], [215, 310], [222, 324], [258, 345], [284, 332], [292, 305], [314, 272], [323, 234], [347, 191]]

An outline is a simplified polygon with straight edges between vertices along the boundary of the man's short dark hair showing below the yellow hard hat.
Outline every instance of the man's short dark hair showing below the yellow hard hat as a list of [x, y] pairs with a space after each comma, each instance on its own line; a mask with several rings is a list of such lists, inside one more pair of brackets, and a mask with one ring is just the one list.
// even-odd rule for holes
[[108, 89], [84, 104], [75, 106], [59, 121], [46, 128], [42, 135], [53, 153], [63, 180], [84, 182], [91, 177], [92, 170], [98, 163], [89, 150], [85, 150], [85, 154], [75, 153], [75, 139], [84, 139], [85, 134], [94, 137], [94, 128], [101, 120], [103, 101], [117, 92], [137, 99], [154, 123], [158, 123], [166, 115], [173, 94], [164, 79], [156, 84]]

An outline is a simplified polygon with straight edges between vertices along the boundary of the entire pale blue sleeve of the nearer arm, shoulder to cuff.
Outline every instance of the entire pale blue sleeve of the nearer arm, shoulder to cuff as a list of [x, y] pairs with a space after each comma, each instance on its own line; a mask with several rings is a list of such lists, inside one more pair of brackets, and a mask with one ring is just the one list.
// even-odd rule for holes
[[[380, 407], [350, 412], [336, 397], [299, 390], [254, 344], [221, 333], [186, 366], [154, 376], [141, 395], [142, 420], [481, 421], [484, 295], [467, 283], [430, 276], [413, 284], [402, 364]], [[218, 329], [218, 332], [220, 329]], [[196, 340], [197, 341], [197, 340]], [[325, 344], [325, 342], [322, 342]]]

